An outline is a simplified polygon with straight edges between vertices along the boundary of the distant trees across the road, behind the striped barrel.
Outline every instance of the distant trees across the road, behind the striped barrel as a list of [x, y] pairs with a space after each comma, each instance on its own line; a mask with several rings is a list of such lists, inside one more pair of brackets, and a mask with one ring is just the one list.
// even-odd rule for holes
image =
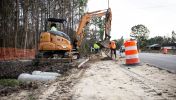
[[[150, 34], [149, 29], [145, 25], [139, 24], [131, 28], [130, 36], [138, 41], [138, 48], [142, 50], [146, 50], [147, 46], [153, 45], [153, 44], [159, 44], [161, 46], [173, 45], [176, 47], [175, 31], [171, 32], [171, 37], [155, 36], [155, 37], [149, 38], [149, 34]], [[115, 41], [117, 43], [117, 49], [119, 49], [124, 43], [123, 37]]]

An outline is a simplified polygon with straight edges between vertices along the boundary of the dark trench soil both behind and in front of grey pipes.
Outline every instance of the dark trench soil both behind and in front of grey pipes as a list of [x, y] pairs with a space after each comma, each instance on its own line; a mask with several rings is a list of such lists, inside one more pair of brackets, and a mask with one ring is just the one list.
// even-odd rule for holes
[[[33, 65], [31, 60], [21, 61], [3, 61], [0, 62], [0, 82], [2, 80], [15, 80], [21, 73], [31, 74], [35, 70], [46, 72], [57, 72], [61, 74], [61, 77], [70, 75], [70, 71], [76, 69], [76, 63], [42, 63], [39, 65]], [[76, 70], [75, 70], [76, 71]], [[13, 83], [12, 83], [13, 84]], [[20, 90], [31, 90], [39, 88], [41, 83], [19, 83], [17, 86], [3, 86], [0, 84], [0, 96], [8, 96], [11, 93], [18, 92]]]

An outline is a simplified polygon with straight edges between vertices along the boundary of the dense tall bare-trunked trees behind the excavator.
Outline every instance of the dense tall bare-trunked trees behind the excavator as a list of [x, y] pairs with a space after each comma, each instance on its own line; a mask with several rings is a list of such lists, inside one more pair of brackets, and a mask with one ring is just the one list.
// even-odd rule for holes
[[0, 0], [0, 47], [35, 48], [47, 18], [64, 18], [72, 38], [88, 0]]

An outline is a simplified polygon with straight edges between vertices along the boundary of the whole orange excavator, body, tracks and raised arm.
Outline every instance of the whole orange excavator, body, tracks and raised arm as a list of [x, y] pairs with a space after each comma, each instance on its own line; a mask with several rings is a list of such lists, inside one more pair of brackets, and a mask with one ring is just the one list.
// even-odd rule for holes
[[[79, 58], [79, 52], [73, 52], [73, 48], [80, 47], [82, 40], [84, 39], [84, 27], [89, 23], [89, 21], [93, 17], [101, 17], [105, 16], [105, 38], [104, 41], [101, 41], [101, 45], [103, 47], [107, 47], [107, 43], [110, 40], [110, 30], [111, 30], [111, 20], [112, 20], [112, 12], [111, 9], [108, 8], [106, 10], [98, 10], [94, 12], [85, 13], [80, 20], [78, 25], [78, 29], [76, 31], [76, 37], [74, 41], [75, 43], [71, 43], [70, 37], [62, 32], [62, 31], [45, 31], [40, 33], [40, 39], [38, 44], [38, 52], [36, 54], [36, 61], [39, 62], [41, 59], [58, 59], [58, 58], [67, 58], [69, 61], [72, 61], [73, 55], [77, 55], [76, 59]], [[49, 18], [47, 20], [51, 23], [61, 23], [63, 24], [65, 19], [56, 19]], [[64, 24], [63, 24], [64, 26]], [[47, 25], [46, 25], [47, 27]], [[45, 27], [45, 29], [46, 29]], [[47, 29], [46, 29], [47, 30]]]

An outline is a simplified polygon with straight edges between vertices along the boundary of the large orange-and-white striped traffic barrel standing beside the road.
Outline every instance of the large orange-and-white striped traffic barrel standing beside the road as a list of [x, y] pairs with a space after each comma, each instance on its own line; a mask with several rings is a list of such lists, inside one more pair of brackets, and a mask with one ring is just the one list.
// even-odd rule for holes
[[135, 40], [128, 40], [124, 43], [124, 45], [125, 45], [126, 64], [127, 65], [138, 64], [140, 60], [137, 50], [137, 42]]

